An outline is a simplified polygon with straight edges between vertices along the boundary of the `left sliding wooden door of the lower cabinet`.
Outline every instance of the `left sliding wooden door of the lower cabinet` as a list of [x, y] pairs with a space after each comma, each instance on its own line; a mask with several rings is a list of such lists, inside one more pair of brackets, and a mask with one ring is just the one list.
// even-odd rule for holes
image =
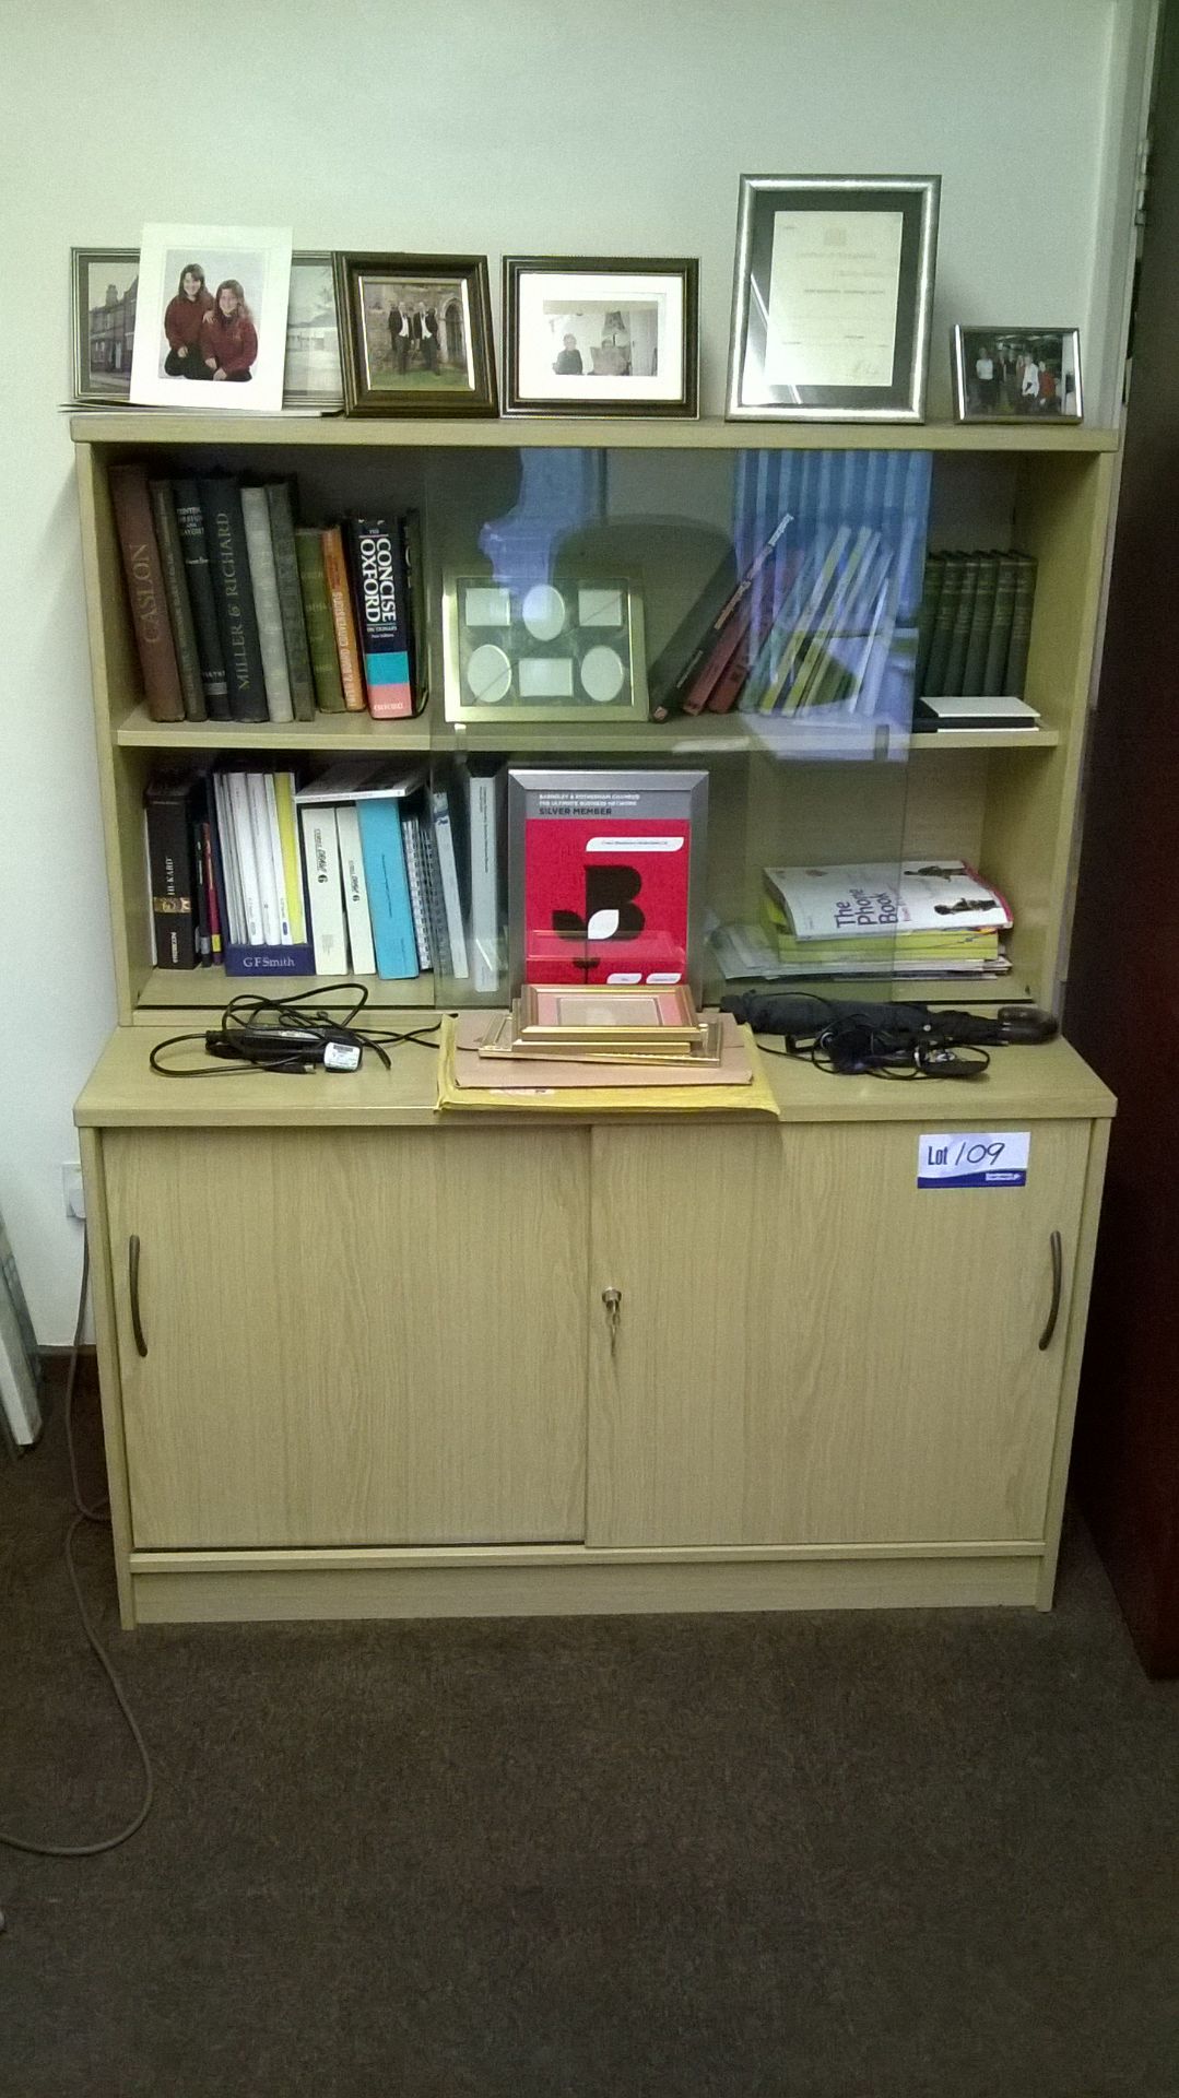
[[136, 1546], [583, 1536], [583, 1133], [113, 1131], [103, 1156]]

